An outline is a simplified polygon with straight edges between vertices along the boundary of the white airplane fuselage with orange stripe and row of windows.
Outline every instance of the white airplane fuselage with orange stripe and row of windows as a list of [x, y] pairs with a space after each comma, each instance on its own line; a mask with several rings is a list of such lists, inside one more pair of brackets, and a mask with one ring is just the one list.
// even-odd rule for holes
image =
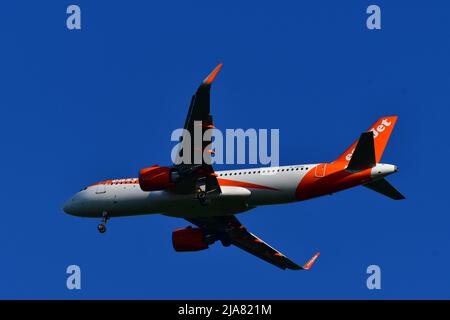
[[[257, 206], [303, 200], [300, 182], [308, 175], [325, 176], [317, 164], [216, 171], [221, 193], [203, 206], [194, 194], [170, 190], [142, 191], [138, 180], [117, 179], [100, 182], [76, 193], [64, 205], [64, 211], [81, 217], [110, 217], [160, 213], [175, 217], [229, 215]], [[378, 164], [369, 178], [384, 177], [396, 170], [393, 165]], [[306, 187], [305, 187], [306, 188]], [[339, 191], [339, 190], [337, 190]]]

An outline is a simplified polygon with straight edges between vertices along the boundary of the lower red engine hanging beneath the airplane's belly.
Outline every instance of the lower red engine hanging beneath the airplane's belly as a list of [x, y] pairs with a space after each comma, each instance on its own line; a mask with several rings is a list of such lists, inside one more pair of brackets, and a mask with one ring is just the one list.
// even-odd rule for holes
[[172, 232], [172, 245], [175, 251], [200, 251], [208, 249], [203, 231], [191, 226]]

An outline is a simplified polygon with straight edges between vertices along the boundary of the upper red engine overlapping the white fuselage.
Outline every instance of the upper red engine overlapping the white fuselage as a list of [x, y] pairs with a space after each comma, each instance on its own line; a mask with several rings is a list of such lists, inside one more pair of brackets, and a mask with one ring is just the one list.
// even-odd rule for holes
[[158, 165], [139, 171], [139, 186], [142, 191], [157, 191], [172, 188], [174, 171], [169, 167]]

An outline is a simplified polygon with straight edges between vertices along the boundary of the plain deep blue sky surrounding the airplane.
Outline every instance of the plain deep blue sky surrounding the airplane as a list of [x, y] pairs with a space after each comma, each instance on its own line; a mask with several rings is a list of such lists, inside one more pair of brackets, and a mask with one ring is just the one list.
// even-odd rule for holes
[[[82, 30], [65, 26], [78, 4]], [[365, 26], [378, 4], [382, 30]], [[14, 1], [0, 13], [0, 298], [449, 298], [449, 5], [444, 1]], [[62, 212], [82, 187], [169, 164], [200, 81], [218, 128], [279, 128], [281, 164], [331, 161], [398, 115], [383, 161], [407, 197], [355, 188], [241, 221], [310, 272], [220, 244], [175, 253], [160, 215]], [[222, 167], [225, 168], [225, 167]], [[232, 167], [227, 167], [232, 168]], [[66, 289], [77, 264], [82, 289]], [[377, 264], [382, 289], [366, 288]]]

